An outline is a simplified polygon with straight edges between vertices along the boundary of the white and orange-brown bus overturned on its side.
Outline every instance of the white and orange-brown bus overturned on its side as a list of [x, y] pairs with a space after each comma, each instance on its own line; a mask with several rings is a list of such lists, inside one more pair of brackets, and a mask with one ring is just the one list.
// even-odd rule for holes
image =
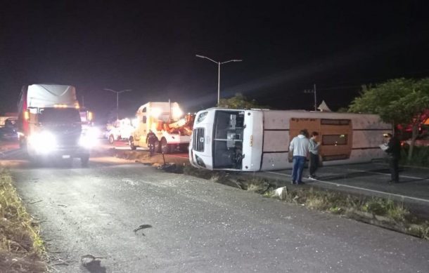
[[211, 108], [196, 114], [189, 160], [209, 170], [292, 168], [289, 144], [303, 129], [319, 133], [327, 166], [385, 157], [379, 145], [393, 128], [375, 114]]

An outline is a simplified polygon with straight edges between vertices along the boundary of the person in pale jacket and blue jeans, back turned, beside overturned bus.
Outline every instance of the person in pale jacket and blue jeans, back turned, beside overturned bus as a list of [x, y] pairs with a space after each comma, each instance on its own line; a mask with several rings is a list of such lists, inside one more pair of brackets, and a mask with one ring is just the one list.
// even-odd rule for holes
[[307, 136], [307, 130], [301, 130], [300, 134], [293, 138], [289, 145], [289, 151], [293, 151], [292, 184], [305, 184], [302, 182], [302, 171], [304, 170], [309, 149]]

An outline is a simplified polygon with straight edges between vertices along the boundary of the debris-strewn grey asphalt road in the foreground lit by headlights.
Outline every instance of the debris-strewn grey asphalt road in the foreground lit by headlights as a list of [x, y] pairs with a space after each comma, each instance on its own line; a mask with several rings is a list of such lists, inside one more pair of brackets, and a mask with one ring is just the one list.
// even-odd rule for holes
[[423, 239], [142, 164], [11, 171], [59, 272], [429, 271]]

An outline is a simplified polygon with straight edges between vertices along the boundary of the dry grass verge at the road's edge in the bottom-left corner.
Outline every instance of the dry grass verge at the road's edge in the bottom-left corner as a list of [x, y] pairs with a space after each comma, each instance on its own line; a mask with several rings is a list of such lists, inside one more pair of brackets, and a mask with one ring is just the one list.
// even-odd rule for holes
[[23, 206], [9, 173], [0, 170], [0, 272], [45, 272], [39, 227]]

